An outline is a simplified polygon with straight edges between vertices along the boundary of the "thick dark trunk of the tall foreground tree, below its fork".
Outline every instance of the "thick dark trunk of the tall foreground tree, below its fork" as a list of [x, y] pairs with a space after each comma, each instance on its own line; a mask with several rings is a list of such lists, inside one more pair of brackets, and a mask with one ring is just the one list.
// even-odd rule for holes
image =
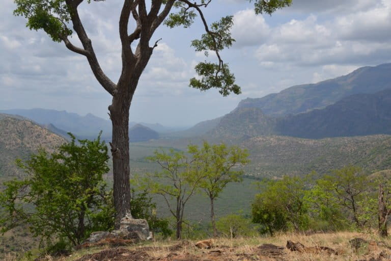
[[114, 206], [116, 208], [115, 227], [121, 219], [130, 214], [130, 168], [129, 168], [129, 95], [126, 91], [113, 96], [109, 106], [113, 124], [113, 142], [110, 143], [113, 155]]

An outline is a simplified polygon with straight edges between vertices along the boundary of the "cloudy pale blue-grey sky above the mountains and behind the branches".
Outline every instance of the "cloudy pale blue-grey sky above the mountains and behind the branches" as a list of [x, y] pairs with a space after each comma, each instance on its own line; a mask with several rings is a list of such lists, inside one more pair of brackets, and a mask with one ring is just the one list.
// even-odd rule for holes
[[[121, 72], [122, 3], [79, 7], [101, 67], [113, 82]], [[13, 1], [0, 0], [0, 6], [0, 110], [44, 108], [107, 119], [111, 97], [85, 57], [52, 42], [43, 31], [27, 29], [25, 18], [13, 16]], [[391, 62], [391, 0], [293, 0], [272, 16], [256, 15], [252, 7], [245, 0], [213, 0], [204, 10], [209, 23], [234, 16], [236, 42], [222, 51], [222, 59], [242, 94], [222, 97], [216, 89], [189, 88], [195, 64], [205, 60], [190, 46], [204, 33], [200, 19], [188, 29], [162, 25], [152, 38], [151, 44], [162, 40], [139, 81], [130, 121], [191, 126], [229, 113], [247, 97]], [[75, 35], [71, 41], [79, 44]]]

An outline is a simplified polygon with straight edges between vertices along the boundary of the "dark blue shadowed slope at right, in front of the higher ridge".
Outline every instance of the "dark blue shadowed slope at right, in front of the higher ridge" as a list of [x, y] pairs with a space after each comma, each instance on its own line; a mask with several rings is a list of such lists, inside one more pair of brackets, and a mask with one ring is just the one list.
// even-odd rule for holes
[[325, 109], [289, 116], [275, 130], [310, 139], [391, 134], [391, 90], [351, 95]]

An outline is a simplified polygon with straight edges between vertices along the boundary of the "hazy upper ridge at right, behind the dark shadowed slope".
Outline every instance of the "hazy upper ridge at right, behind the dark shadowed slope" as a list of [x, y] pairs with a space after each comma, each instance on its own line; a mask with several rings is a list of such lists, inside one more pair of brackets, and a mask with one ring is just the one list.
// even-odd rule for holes
[[320, 109], [353, 94], [370, 94], [391, 88], [390, 70], [391, 64], [362, 67], [336, 79], [293, 86], [262, 98], [247, 98], [239, 103], [238, 108], [255, 107], [272, 116]]

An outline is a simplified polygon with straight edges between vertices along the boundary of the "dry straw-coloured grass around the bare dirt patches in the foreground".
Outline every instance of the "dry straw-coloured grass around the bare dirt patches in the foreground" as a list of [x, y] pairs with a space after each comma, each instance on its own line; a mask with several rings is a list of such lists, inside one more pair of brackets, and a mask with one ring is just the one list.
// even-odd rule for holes
[[[337, 232], [337, 233], [314, 233], [309, 236], [304, 234], [297, 233], [282, 233], [274, 237], [262, 238], [238, 238], [238, 239], [227, 239], [219, 238], [213, 240], [213, 248], [211, 250], [221, 250], [222, 254], [213, 255], [211, 259], [205, 260], [221, 260], [221, 261], [246, 261], [246, 260], [292, 260], [292, 261], [310, 261], [310, 260], [319, 260], [319, 261], [342, 261], [342, 260], [360, 260], [360, 259], [369, 259], [371, 256], [378, 256], [378, 254], [385, 248], [379, 247], [375, 250], [368, 250], [368, 245], [361, 247], [357, 252], [352, 249], [350, 246], [349, 240], [353, 238], [362, 238], [369, 242], [371, 241], [382, 241], [386, 245], [391, 246], [391, 240], [382, 239], [377, 237], [375, 234], [368, 233], [358, 233], [358, 232]], [[300, 242], [306, 247], [319, 247], [326, 246], [338, 251], [338, 255], [327, 254], [327, 253], [300, 253], [300, 252], [291, 252], [287, 249], [284, 250], [283, 259], [273, 259], [265, 256], [260, 256], [257, 252], [258, 246], [262, 244], [273, 244], [276, 246], [285, 247], [287, 240], [294, 242]], [[167, 260], [171, 261], [170, 255], [175, 254], [175, 256], [187, 256], [188, 259], [178, 259], [178, 260], [204, 260], [203, 258], [209, 258], [210, 250], [198, 249], [194, 247], [193, 241], [152, 241], [146, 242], [138, 245], [132, 245], [125, 248], [131, 251], [145, 251], [148, 253], [150, 260]], [[70, 256], [66, 257], [50, 257], [47, 256], [45, 260], [47, 261], [74, 261], [78, 258], [85, 256], [87, 254], [97, 253], [103, 249], [108, 249], [109, 246], [103, 246], [99, 248], [90, 248], [90, 249], [81, 249], [75, 251]], [[389, 251], [389, 250], [387, 250]], [[195, 258], [195, 259], [190, 259]], [[197, 259], [200, 258], [200, 259]], [[16, 261], [20, 259], [15, 259], [12, 255], [6, 257], [5, 261]], [[130, 260], [130, 259], [129, 259]], [[383, 260], [383, 259], [382, 259]], [[387, 260], [387, 259], [384, 259]]]

